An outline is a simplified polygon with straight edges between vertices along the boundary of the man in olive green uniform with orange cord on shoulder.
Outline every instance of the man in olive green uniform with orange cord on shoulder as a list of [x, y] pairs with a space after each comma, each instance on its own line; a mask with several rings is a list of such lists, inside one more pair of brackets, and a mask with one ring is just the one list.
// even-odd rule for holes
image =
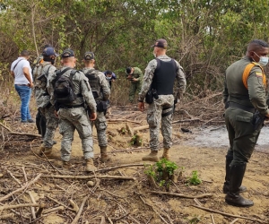
[[263, 70], [268, 54], [269, 45], [264, 40], [254, 39], [247, 46], [246, 56], [230, 65], [225, 73], [223, 102], [230, 149], [226, 155], [223, 193], [227, 203], [239, 207], [254, 204], [239, 193], [247, 190], [241, 184], [263, 126], [264, 120], [260, 123], [259, 118], [269, 116]]

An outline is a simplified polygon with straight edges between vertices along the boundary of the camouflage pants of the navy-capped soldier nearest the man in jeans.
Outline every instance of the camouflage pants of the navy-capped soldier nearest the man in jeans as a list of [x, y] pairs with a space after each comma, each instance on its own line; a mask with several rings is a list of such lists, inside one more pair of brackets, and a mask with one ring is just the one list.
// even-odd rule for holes
[[43, 138], [44, 146], [46, 148], [52, 148], [54, 135], [59, 123], [59, 119], [55, 116], [54, 111], [55, 111], [54, 106], [41, 109], [41, 113], [46, 118], [46, 133]]

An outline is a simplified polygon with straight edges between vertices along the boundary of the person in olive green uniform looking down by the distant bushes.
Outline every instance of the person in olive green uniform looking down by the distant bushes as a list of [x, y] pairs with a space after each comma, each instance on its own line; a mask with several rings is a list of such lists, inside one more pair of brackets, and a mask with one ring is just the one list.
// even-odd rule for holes
[[131, 82], [130, 92], [129, 92], [129, 101], [130, 103], [134, 102], [135, 92], [140, 92], [141, 83], [143, 80], [143, 73], [138, 67], [127, 67], [126, 68], [127, 80]]

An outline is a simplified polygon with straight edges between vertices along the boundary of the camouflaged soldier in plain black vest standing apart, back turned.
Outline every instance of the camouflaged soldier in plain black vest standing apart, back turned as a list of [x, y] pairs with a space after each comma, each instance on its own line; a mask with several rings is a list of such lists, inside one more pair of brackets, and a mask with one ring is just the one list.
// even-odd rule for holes
[[[174, 104], [181, 99], [186, 89], [186, 78], [183, 68], [178, 62], [166, 55], [167, 41], [158, 39], [152, 46], [153, 55], [156, 59], [150, 61], [145, 69], [143, 85], [139, 93], [138, 108], [144, 110], [144, 102], [148, 90], [156, 90], [153, 102], [149, 104], [147, 111], [147, 122], [150, 127], [150, 148], [151, 153], [143, 160], [158, 161], [159, 130], [163, 136], [162, 158], [169, 159], [169, 148], [172, 145], [172, 114]], [[173, 92], [174, 82], [177, 81], [175, 93]]]

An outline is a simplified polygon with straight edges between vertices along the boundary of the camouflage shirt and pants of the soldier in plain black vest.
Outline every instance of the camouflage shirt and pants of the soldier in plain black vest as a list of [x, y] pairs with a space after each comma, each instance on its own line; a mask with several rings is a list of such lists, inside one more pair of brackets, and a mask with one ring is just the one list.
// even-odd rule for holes
[[[158, 58], [162, 61], [170, 61], [171, 58], [169, 56], [158, 56]], [[177, 86], [176, 92], [174, 93], [177, 99], [180, 99], [183, 92], [186, 89], [186, 79], [185, 74], [183, 72], [183, 68], [175, 61], [178, 67], [178, 72], [176, 76]], [[154, 75], [154, 71], [157, 68], [157, 61], [153, 59], [146, 67], [145, 73], [143, 76], [143, 85], [142, 89], [139, 93], [139, 101], [143, 101], [145, 95], [148, 90], [150, 90], [150, 86], [152, 84], [152, 79]], [[165, 84], [165, 83], [164, 83]], [[163, 147], [165, 149], [169, 149], [172, 145], [171, 134], [172, 134], [172, 114], [169, 116], [161, 117], [161, 114], [169, 112], [169, 110], [173, 109], [174, 105], [174, 95], [159, 95], [159, 99], [153, 99], [153, 103], [149, 105], [147, 110], [147, 122], [150, 127], [150, 148], [152, 151], [158, 151], [159, 146], [159, 130], [161, 125], [161, 134], [163, 136]], [[163, 110], [163, 108], [169, 108], [167, 110]]]

